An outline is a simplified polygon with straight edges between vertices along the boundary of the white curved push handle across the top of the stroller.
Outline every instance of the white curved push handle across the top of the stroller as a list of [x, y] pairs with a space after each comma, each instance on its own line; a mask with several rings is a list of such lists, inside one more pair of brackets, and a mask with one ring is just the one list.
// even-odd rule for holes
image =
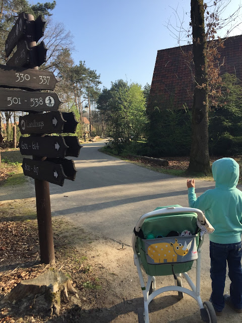
[[175, 206], [169, 206], [165, 208], [160, 208], [158, 210], [154, 210], [148, 213], [143, 214], [143, 216], [140, 217], [135, 230], [136, 232], [139, 232], [141, 229], [142, 224], [144, 223], [145, 219], [154, 217], [154, 216], [160, 216], [161, 214], [170, 214], [170, 213], [197, 213], [199, 222], [204, 225], [204, 215], [203, 212], [198, 208], [193, 207], [175, 207]]

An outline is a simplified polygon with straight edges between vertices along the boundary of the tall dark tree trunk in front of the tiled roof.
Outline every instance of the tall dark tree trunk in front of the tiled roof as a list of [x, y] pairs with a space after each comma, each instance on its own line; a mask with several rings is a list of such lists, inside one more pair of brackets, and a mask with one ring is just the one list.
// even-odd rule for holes
[[191, 0], [195, 89], [192, 109], [192, 145], [188, 173], [208, 174], [211, 170], [208, 150], [208, 76], [207, 41], [203, 0]]

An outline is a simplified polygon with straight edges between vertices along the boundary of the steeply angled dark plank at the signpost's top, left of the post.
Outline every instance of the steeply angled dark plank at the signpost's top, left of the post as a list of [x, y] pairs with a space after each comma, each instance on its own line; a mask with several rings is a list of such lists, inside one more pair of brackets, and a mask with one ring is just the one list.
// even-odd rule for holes
[[10, 31], [5, 42], [5, 52], [7, 57], [10, 56], [12, 50], [17, 45], [17, 42], [25, 35], [27, 19], [28, 15], [21, 13], [14, 27]]

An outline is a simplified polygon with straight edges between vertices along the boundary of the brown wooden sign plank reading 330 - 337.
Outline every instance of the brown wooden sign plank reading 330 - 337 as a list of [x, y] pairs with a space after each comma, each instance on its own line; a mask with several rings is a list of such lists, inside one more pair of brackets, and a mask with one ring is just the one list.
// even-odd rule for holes
[[53, 72], [0, 65], [0, 86], [31, 90], [54, 90]]

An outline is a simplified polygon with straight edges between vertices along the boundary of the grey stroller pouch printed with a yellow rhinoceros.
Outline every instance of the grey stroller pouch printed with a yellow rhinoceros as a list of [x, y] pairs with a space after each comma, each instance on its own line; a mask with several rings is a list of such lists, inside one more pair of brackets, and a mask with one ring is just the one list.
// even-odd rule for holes
[[198, 258], [196, 236], [143, 239], [150, 264], [179, 263]]

